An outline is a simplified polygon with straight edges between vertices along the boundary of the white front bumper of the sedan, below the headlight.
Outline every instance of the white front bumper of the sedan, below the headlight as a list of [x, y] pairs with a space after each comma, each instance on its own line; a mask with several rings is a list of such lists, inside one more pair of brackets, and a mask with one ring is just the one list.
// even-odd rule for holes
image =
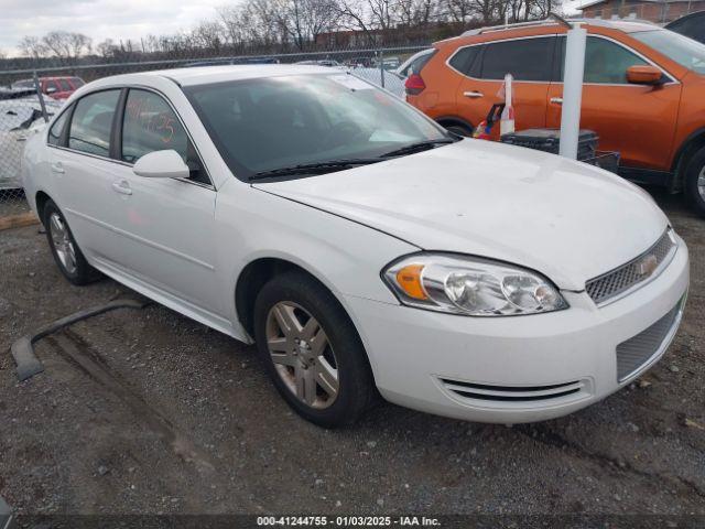
[[[509, 317], [345, 302], [387, 400], [469, 421], [541, 421], [604, 399], [665, 353], [688, 287], [687, 247], [677, 242], [659, 277], [601, 307], [585, 292], [563, 292], [567, 310]], [[620, 376], [625, 343], [621, 371], [625, 354], [634, 368]]]

